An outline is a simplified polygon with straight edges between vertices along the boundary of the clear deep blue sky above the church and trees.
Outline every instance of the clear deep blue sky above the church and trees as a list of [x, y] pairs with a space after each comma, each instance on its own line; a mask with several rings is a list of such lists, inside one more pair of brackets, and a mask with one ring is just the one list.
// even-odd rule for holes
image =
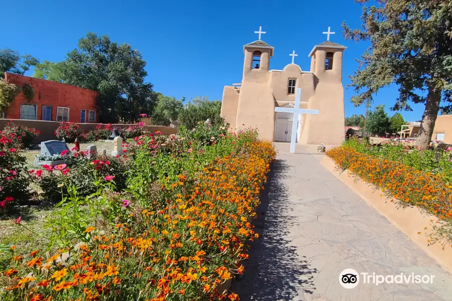
[[[341, 23], [361, 26], [361, 7], [345, 1], [118, 1], [76, 2], [31, 0], [7, 1], [2, 5], [0, 48], [31, 54], [39, 60], [64, 60], [86, 32], [108, 35], [112, 41], [138, 49], [147, 62], [148, 81], [156, 91], [180, 98], [205, 95], [221, 99], [223, 86], [240, 82], [244, 44], [262, 40], [275, 47], [271, 69], [291, 62], [309, 70], [307, 57], [315, 44], [330, 40], [348, 47], [344, 54], [344, 86], [357, 68], [356, 58], [368, 45], [345, 41]], [[318, 14], [316, 14], [319, 12]], [[33, 72], [29, 72], [29, 76]], [[364, 113], [354, 107], [351, 88], [345, 90], [346, 116]], [[382, 90], [376, 104], [394, 104], [397, 87]], [[401, 112], [406, 120], [421, 118], [423, 105]], [[390, 111], [390, 115], [394, 112]]]

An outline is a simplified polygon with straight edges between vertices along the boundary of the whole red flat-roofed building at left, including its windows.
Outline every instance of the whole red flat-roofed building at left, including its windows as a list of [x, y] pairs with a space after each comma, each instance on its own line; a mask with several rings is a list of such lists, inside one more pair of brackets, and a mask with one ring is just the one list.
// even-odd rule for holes
[[4, 118], [98, 123], [97, 92], [50, 80], [5, 72], [5, 81], [22, 88], [33, 87], [35, 97], [28, 101], [21, 92]]

